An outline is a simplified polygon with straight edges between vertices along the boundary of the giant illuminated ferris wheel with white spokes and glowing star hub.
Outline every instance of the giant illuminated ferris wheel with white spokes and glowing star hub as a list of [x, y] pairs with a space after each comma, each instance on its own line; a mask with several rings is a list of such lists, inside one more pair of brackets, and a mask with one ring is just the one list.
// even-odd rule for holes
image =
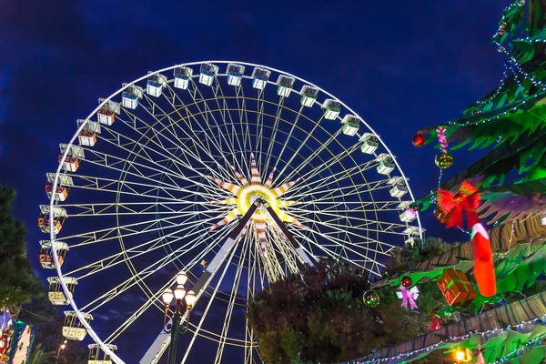
[[[197, 345], [215, 363], [257, 362], [245, 319], [256, 292], [323, 258], [380, 275], [392, 248], [421, 237], [389, 148], [349, 106], [298, 76], [188, 63], [98, 104], [60, 145], [38, 217], [49, 235], [40, 263], [56, 269], [48, 298], [72, 306], [66, 339], [95, 341], [89, 362], [123, 363], [115, 352], [128, 352], [123, 334], [167, 310], [162, 294], [181, 271], [195, 291], [182, 362], [203, 362], [192, 359]], [[114, 315], [116, 302], [126, 310]], [[93, 329], [114, 321], [106, 334]], [[158, 335], [143, 364], [170, 344], [167, 326], [152, 322]]]

